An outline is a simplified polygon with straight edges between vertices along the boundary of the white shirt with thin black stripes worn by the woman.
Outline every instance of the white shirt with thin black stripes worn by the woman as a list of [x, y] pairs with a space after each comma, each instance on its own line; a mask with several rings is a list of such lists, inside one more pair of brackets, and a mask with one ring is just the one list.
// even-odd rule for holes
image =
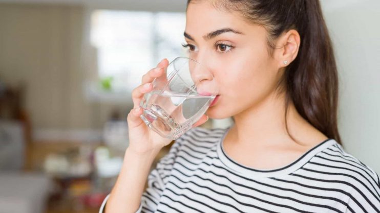
[[225, 153], [228, 130], [197, 127], [178, 138], [149, 174], [137, 212], [380, 212], [378, 175], [334, 139], [257, 170]]

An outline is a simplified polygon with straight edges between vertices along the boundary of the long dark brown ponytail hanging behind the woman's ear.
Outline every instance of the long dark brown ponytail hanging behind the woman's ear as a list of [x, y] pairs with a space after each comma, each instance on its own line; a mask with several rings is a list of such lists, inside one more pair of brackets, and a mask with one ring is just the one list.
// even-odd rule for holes
[[304, 7], [302, 17], [294, 20], [301, 45], [283, 76], [287, 100], [311, 125], [342, 144], [337, 128], [338, 75], [321, 6], [318, 0], [295, 2]]

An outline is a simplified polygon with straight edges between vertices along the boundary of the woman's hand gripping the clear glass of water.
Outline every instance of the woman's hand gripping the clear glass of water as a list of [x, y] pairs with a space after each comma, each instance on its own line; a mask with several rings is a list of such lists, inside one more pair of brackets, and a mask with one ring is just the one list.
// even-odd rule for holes
[[[166, 78], [166, 68], [168, 64], [168, 60], [163, 59], [158, 63], [157, 67], [149, 70], [149, 72], [142, 77], [141, 85], [132, 91], [134, 107], [127, 117], [130, 140], [129, 149], [140, 154], [159, 151], [172, 141], [171, 139], [161, 137], [158, 133], [151, 130], [140, 118], [143, 112], [140, 107], [141, 99], [146, 92], [150, 92], [153, 89], [152, 82], [155, 78]], [[207, 120], [208, 117], [203, 115], [193, 127], [202, 125]]]

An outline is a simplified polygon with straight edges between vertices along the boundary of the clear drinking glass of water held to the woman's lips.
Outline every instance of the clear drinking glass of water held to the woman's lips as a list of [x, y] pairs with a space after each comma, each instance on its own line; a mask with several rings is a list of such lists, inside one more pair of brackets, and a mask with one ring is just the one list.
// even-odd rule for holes
[[144, 94], [140, 115], [144, 123], [164, 138], [177, 139], [191, 129], [218, 94], [207, 68], [193, 59], [178, 57], [155, 78]]

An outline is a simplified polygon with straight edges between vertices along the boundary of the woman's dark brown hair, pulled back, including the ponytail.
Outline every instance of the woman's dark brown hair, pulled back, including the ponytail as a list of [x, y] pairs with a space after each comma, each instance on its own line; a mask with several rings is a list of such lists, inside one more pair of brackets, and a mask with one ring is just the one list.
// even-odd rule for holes
[[[188, 0], [187, 6], [197, 1], [205, 0]], [[277, 87], [286, 91], [285, 121], [292, 102], [305, 120], [342, 144], [337, 128], [338, 75], [319, 0], [208, 1], [216, 9], [239, 12], [248, 22], [263, 26], [268, 32], [270, 55], [277, 48], [274, 41], [282, 33], [298, 31], [301, 37], [298, 56], [286, 67]], [[286, 130], [289, 134], [287, 122]]]

